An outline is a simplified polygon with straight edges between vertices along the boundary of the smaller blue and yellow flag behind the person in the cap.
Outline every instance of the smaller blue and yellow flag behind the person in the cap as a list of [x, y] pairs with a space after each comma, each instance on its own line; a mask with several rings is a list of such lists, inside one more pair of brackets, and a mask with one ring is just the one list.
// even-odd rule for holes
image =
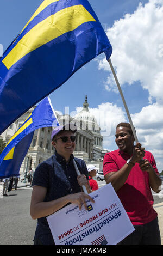
[[51, 101], [46, 97], [34, 109], [11, 137], [0, 155], [0, 178], [18, 176], [21, 164], [33, 139], [34, 131], [42, 127], [60, 126]]

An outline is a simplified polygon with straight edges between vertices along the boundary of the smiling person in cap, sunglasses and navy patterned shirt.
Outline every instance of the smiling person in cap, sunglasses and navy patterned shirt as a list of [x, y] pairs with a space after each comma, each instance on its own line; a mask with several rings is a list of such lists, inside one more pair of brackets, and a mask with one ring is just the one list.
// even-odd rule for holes
[[[70, 203], [86, 206], [86, 199], [92, 203], [89, 196], [91, 188], [88, 181], [86, 164], [83, 160], [73, 157], [75, 148], [75, 132], [71, 125], [63, 129], [53, 130], [52, 144], [55, 153], [48, 160], [37, 166], [33, 177], [33, 192], [31, 197], [30, 215], [37, 219], [34, 236], [34, 245], [54, 245], [53, 236], [49, 229], [46, 217]], [[80, 175], [77, 175], [73, 166], [76, 161]], [[82, 191], [86, 187], [87, 194]]]

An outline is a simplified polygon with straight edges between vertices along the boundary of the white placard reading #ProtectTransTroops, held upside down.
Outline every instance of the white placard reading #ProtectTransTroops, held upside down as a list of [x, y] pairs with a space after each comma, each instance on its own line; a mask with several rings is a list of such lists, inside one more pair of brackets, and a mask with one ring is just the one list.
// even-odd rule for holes
[[111, 184], [90, 196], [87, 210], [70, 204], [47, 217], [55, 245], [116, 245], [135, 230]]

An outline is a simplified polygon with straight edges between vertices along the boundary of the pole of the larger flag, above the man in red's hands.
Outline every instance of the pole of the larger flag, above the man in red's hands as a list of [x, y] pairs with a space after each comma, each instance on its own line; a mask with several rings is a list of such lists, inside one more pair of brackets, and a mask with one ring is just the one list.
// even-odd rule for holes
[[128, 116], [128, 119], [129, 119], [129, 122], [130, 122], [130, 125], [131, 125], [131, 129], [133, 131], [133, 135], [134, 135], [134, 138], [135, 138], [135, 142], [137, 143], [138, 142], [138, 139], [137, 139], [137, 135], [136, 135], [136, 131], [135, 131], [135, 128], [134, 128], [134, 125], [133, 125], [133, 121], [131, 119], [131, 116], [130, 116], [130, 113], [129, 113], [129, 110], [128, 110], [128, 107], [127, 107], [127, 104], [126, 104], [126, 100], [124, 99], [124, 96], [123, 96], [123, 93], [122, 93], [122, 89], [121, 89], [121, 86], [120, 86], [120, 83], [118, 82], [118, 78], [116, 76], [116, 73], [115, 73], [115, 70], [112, 66], [112, 63], [111, 63], [111, 59], [109, 58], [108, 60], [109, 62], [109, 65], [110, 65], [110, 68], [111, 68], [111, 71], [112, 71], [112, 74], [114, 75], [114, 78], [115, 78], [115, 81], [116, 81], [116, 84], [117, 84], [117, 87], [118, 87], [118, 90], [121, 94], [121, 97], [122, 97], [122, 101], [123, 101], [123, 105], [126, 109], [126, 113], [127, 113], [127, 116]]

